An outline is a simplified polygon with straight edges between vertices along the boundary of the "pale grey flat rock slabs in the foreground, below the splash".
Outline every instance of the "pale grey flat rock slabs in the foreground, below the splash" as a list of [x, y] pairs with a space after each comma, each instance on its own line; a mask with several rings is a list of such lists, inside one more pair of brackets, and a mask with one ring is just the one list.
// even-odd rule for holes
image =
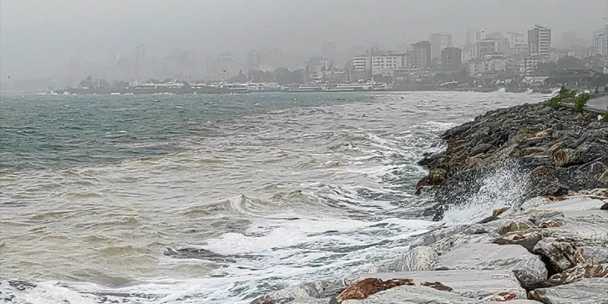
[[251, 303], [607, 304], [607, 204], [606, 189], [535, 198], [483, 223], [438, 225], [374, 267]]

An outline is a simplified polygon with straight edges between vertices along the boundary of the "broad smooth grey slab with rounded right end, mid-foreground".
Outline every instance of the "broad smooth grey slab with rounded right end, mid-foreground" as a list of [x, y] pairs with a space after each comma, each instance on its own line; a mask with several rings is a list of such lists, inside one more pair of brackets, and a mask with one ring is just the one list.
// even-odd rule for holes
[[547, 279], [547, 267], [519, 245], [468, 243], [439, 257], [435, 269], [511, 270], [522, 283]]

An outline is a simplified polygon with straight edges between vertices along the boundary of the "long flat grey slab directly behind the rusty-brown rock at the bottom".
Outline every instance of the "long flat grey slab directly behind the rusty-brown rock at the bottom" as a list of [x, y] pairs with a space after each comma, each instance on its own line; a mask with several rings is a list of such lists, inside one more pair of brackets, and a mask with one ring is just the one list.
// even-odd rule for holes
[[[515, 274], [508, 270], [437, 270], [431, 272], [387, 272], [358, 275], [344, 278], [339, 282], [345, 287], [369, 277], [383, 281], [393, 278], [411, 278], [420, 282], [439, 282], [451, 287], [456, 294], [468, 298], [488, 298], [504, 292], [513, 293], [517, 298], [526, 298], [526, 290], [517, 281]], [[389, 289], [390, 290], [390, 289]]]

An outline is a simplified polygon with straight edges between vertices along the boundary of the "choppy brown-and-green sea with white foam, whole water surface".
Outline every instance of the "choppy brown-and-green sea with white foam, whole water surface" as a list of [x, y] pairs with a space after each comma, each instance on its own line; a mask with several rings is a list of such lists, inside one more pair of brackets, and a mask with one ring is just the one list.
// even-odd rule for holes
[[437, 225], [415, 162], [442, 131], [542, 98], [2, 95], [0, 301], [247, 303], [365, 269]]

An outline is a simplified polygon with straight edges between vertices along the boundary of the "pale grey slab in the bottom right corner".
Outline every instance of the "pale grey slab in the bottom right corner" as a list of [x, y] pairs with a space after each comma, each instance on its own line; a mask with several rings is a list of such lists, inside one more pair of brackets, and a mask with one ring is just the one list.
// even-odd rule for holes
[[608, 278], [584, 278], [570, 284], [534, 289], [530, 298], [544, 304], [608, 304]]

